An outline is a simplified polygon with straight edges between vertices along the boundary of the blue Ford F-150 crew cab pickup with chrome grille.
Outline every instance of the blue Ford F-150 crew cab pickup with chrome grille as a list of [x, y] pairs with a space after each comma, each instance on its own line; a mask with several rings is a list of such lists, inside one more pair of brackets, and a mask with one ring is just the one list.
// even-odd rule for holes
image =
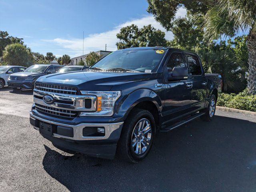
[[126, 48], [88, 71], [38, 78], [30, 123], [62, 150], [113, 159], [145, 158], [158, 131], [210, 121], [221, 76], [204, 74], [197, 54], [168, 47]]

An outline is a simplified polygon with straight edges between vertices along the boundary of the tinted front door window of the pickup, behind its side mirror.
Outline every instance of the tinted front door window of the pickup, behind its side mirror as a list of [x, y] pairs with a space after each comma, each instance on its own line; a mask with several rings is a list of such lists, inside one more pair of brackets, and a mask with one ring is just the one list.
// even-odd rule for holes
[[186, 67], [186, 59], [182, 53], [173, 53], [167, 63], [168, 71], [171, 72], [174, 67]]

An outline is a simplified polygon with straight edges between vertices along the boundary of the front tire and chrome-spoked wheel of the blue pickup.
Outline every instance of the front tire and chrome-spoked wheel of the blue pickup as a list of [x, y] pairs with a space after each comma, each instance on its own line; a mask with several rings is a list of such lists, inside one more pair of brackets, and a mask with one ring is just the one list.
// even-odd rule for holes
[[117, 146], [118, 156], [133, 163], [143, 160], [150, 152], [155, 134], [153, 115], [147, 110], [133, 110], [122, 128]]

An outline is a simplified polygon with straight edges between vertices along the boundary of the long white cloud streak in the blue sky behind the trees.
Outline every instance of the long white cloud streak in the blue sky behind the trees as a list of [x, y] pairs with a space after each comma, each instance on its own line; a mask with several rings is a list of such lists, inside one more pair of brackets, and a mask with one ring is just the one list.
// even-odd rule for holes
[[[186, 9], [180, 8], [177, 11], [176, 17], [185, 16]], [[136, 24], [139, 28], [144, 25], [151, 24], [154, 28], [160, 29], [165, 32], [165, 38], [171, 40], [173, 38], [172, 32], [167, 32], [160, 23], [156, 22], [153, 16], [144, 16], [139, 19], [132, 19], [130, 21], [124, 22], [118, 26], [116, 26], [113, 30], [109, 30], [102, 33], [90, 34], [89, 36], [84, 38], [84, 54], [90, 51], [98, 51], [105, 50], [105, 44], [107, 44], [107, 50], [114, 51], [116, 50], [116, 42], [118, 39], [116, 38], [116, 34], [120, 31], [120, 28], [124, 26], [128, 26], [131, 24]], [[51, 44], [56, 44], [61, 48], [65, 48], [67, 50], [72, 50], [71, 56], [79, 56], [82, 52], [83, 39], [78, 38], [55, 38], [52, 40], [42, 40], [44, 42], [50, 42]]]

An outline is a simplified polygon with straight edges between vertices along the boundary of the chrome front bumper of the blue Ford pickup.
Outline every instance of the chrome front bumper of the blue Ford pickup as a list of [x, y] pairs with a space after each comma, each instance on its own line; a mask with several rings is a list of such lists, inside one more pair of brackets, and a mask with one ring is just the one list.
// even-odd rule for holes
[[[40, 120], [42, 122], [46, 122], [49, 124], [54, 124], [54, 125], [59, 125], [59, 126], [65, 126], [65, 127], [70, 127], [73, 128], [73, 133], [74, 136], [73, 137], [67, 137], [67, 136], [63, 136], [63, 135], [59, 135], [59, 134], [55, 134], [53, 133], [53, 137], [56, 138], [66, 138], [66, 139], [70, 139], [70, 140], [77, 140], [77, 141], [83, 141], [83, 140], [106, 140], [110, 137], [110, 135], [112, 134], [112, 132], [114, 132], [115, 130], [122, 128], [122, 125], [124, 124], [124, 122], [119, 122], [119, 123], [108, 123], [108, 124], [103, 124], [103, 123], [81, 123], [78, 125], [69, 125], [69, 124], [62, 124], [62, 123], [58, 123], [58, 122], [53, 122], [53, 121], [49, 121], [49, 120], [45, 120], [42, 118], [39, 118], [37, 116], [34, 116], [30, 110], [30, 118], [32, 119], [37, 119]], [[105, 128], [105, 136], [83, 136], [83, 129], [85, 127], [95, 127], [95, 126], [99, 126], [99, 127], [104, 127]], [[36, 130], [39, 131], [38, 127], [34, 128]]]

